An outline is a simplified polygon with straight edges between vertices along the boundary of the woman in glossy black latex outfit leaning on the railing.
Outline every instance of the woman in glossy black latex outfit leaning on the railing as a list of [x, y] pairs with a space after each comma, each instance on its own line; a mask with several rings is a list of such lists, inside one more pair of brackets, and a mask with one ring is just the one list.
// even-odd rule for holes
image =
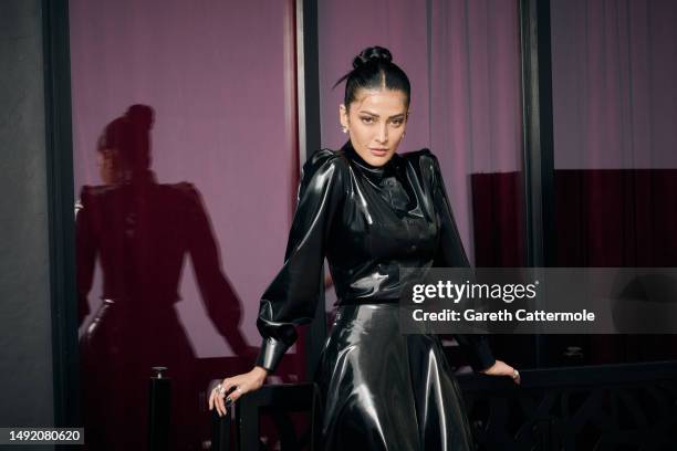
[[[261, 300], [263, 345], [257, 366], [223, 379], [210, 396], [225, 403], [258, 389], [313, 317], [326, 255], [337, 313], [317, 381], [329, 450], [468, 450], [468, 421], [456, 379], [431, 335], [400, 335], [400, 268], [466, 266], [437, 159], [398, 155], [409, 81], [383, 48], [364, 50], [346, 81], [341, 124], [350, 140], [303, 168], [284, 266]], [[488, 375], [519, 374], [496, 360], [481, 336], [458, 336]], [[230, 391], [232, 390], [232, 391]], [[225, 399], [225, 396], [228, 398]]]

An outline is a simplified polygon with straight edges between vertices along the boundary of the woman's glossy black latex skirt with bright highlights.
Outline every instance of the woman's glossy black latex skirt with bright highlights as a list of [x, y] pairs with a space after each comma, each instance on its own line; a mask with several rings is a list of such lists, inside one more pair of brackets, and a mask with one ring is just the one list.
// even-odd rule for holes
[[439, 339], [399, 334], [397, 305], [338, 307], [316, 379], [324, 450], [473, 449]]

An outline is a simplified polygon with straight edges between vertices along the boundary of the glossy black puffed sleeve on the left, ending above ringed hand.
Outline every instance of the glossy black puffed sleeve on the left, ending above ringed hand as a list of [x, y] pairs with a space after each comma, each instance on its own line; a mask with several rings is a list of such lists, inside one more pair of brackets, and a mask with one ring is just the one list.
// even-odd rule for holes
[[331, 150], [317, 151], [303, 166], [284, 265], [261, 296], [257, 321], [263, 337], [257, 365], [269, 371], [296, 340], [295, 326], [315, 314], [326, 239], [344, 192], [343, 168]]

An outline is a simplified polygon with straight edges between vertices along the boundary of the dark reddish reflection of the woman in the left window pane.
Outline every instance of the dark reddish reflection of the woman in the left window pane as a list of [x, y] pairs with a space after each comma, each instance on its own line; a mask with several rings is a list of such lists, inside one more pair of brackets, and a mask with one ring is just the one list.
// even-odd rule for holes
[[93, 450], [145, 449], [148, 378], [159, 365], [173, 379], [171, 442], [198, 449], [196, 357], [175, 308], [186, 254], [219, 333], [237, 354], [248, 350], [199, 192], [187, 182], [158, 183], [149, 169], [152, 125], [153, 109], [133, 105], [105, 127], [97, 146], [104, 185], [83, 187], [76, 217], [81, 323], [97, 259], [103, 275], [101, 307], [81, 338]]

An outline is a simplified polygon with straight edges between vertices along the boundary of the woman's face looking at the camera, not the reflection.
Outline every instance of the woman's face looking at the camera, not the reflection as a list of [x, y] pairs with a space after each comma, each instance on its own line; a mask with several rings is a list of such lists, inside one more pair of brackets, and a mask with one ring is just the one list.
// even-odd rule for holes
[[393, 90], [360, 90], [353, 103], [340, 107], [341, 125], [351, 144], [372, 166], [383, 166], [404, 137], [408, 107], [406, 94]]

